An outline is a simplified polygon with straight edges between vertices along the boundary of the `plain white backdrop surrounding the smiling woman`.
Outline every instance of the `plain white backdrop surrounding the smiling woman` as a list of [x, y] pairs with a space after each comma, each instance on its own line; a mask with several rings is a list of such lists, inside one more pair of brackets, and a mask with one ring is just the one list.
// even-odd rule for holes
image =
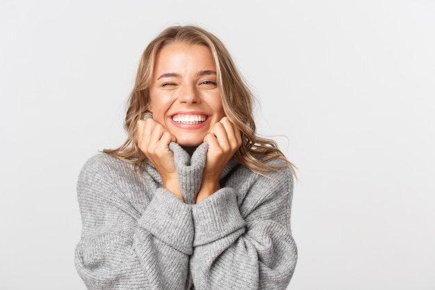
[[217, 35], [298, 167], [288, 289], [435, 289], [432, 0], [0, 2], [0, 289], [85, 289], [76, 179], [166, 26]]

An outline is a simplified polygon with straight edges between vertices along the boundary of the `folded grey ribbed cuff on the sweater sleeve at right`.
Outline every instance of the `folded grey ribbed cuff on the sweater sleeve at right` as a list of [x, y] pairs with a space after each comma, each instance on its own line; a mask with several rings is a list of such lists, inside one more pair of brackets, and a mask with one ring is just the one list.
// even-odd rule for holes
[[245, 228], [233, 188], [221, 188], [192, 206], [195, 239], [193, 246], [211, 243]]

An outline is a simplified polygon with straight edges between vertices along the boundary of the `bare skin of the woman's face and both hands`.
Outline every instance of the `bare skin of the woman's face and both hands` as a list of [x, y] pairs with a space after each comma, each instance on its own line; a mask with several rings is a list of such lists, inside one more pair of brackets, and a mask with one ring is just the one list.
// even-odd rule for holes
[[[196, 202], [219, 190], [219, 176], [242, 144], [240, 131], [224, 116], [216, 65], [210, 49], [203, 45], [173, 43], [156, 55], [150, 86], [152, 119], [138, 121], [138, 146], [154, 164], [163, 188], [183, 201], [171, 141], [188, 152], [208, 143], [206, 166]], [[177, 116], [196, 115], [204, 122], [181, 124]]]

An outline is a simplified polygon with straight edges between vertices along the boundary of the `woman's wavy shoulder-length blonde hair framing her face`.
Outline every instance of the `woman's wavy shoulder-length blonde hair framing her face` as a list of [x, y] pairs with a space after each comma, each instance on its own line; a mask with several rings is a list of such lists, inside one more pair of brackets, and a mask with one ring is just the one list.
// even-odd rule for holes
[[252, 113], [254, 97], [240, 76], [231, 59], [229, 51], [212, 33], [198, 26], [170, 26], [151, 40], [138, 67], [136, 82], [129, 97], [124, 129], [128, 136], [124, 144], [113, 150], [103, 150], [106, 154], [116, 156], [143, 171], [147, 157], [138, 147], [136, 123], [147, 113], [149, 86], [153, 77], [154, 63], [157, 52], [174, 42], [187, 45], [205, 45], [211, 50], [217, 70], [217, 86], [220, 88], [222, 106], [227, 118], [231, 120], [242, 134], [243, 143], [236, 151], [236, 159], [250, 170], [264, 175], [265, 172], [277, 170], [282, 166], [268, 165], [272, 159], [281, 159], [283, 166], [293, 166], [286, 156], [278, 149], [274, 140], [256, 136], [256, 126]]

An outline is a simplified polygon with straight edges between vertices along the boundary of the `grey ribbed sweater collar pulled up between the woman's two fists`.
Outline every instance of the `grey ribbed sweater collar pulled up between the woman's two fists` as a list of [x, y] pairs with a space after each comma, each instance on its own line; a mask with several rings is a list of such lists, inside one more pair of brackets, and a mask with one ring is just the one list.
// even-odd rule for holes
[[169, 147], [174, 152], [174, 162], [184, 202], [195, 204], [197, 193], [201, 187], [202, 171], [206, 166], [208, 145], [207, 143], [199, 145], [191, 158], [188, 152], [177, 143], [172, 142]]

